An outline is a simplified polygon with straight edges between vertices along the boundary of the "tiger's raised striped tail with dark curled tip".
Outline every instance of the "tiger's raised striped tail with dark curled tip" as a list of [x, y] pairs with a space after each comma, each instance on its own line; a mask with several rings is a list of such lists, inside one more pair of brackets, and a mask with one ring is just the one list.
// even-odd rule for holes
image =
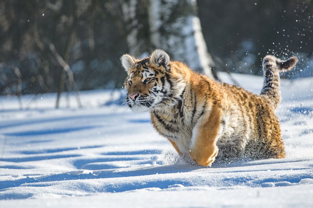
[[280, 60], [275, 56], [267, 55], [263, 59], [262, 67], [264, 73], [264, 83], [261, 95], [266, 96], [274, 106], [280, 102], [280, 72], [290, 71], [298, 62], [296, 56], [290, 57], [288, 60]]

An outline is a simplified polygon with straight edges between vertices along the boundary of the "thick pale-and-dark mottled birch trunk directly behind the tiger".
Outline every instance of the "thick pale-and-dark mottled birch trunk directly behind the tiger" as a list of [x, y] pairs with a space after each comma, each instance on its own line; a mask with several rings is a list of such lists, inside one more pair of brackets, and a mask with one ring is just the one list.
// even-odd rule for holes
[[148, 56], [155, 49], [213, 78], [195, 0], [130, 0], [122, 8], [131, 55]]

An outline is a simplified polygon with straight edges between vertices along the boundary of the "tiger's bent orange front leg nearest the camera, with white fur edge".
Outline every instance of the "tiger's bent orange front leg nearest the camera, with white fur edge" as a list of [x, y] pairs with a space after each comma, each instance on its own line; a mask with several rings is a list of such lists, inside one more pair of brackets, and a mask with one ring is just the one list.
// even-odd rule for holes
[[189, 155], [198, 165], [211, 166], [218, 154], [216, 140], [220, 129], [220, 110], [203, 114], [192, 130]]

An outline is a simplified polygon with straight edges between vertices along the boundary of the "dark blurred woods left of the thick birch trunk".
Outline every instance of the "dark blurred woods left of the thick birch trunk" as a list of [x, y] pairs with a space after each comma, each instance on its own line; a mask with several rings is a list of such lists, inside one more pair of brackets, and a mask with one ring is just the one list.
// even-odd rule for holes
[[119, 57], [128, 47], [119, 2], [12, 0], [0, 2], [0, 9], [2, 94], [16, 94], [15, 66], [24, 94], [67, 89], [67, 75], [51, 43], [80, 90], [122, 85]]

